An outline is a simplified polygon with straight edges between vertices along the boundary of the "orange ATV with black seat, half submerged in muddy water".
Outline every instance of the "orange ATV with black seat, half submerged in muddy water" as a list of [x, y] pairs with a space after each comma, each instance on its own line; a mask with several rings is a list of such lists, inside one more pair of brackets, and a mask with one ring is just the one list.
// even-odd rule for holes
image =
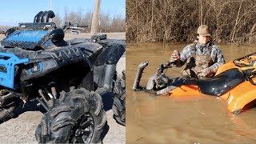
[[147, 86], [141, 87], [139, 82], [147, 65], [148, 62], [142, 62], [138, 66], [133, 90], [154, 90], [158, 95], [171, 97], [217, 96], [228, 102], [228, 110], [233, 114], [239, 114], [256, 99], [256, 53], [220, 66], [213, 78], [168, 78], [164, 70], [174, 63], [166, 62], [158, 67]]

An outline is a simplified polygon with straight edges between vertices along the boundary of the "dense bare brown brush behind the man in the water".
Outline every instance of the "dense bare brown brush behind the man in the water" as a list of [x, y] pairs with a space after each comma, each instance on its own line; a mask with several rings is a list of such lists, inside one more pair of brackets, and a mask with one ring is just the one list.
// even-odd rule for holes
[[256, 42], [256, 0], [126, 0], [127, 42], [193, 42], [199, 25], [215, 42]]

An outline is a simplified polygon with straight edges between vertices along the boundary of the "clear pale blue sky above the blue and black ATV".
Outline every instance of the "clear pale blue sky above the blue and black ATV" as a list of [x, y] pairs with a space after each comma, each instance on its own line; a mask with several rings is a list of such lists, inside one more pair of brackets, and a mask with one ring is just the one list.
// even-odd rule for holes
[[[62, 18], [64, 11], [82, 13], [94, 11], [94, 0], [1, 0], [0, 26], [18, 26], [19, 22], [33, 22], [39, 11], [53, 10]], [[101, 12], [111, 17], [126, 17], [126, 0], [101, 0]]]

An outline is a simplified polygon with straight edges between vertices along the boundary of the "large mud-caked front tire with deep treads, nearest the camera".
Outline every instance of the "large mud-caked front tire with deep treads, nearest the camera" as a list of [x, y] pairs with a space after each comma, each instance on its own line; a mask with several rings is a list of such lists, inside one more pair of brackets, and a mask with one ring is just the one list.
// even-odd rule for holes
[[36, 139], [39, 143], [101, 143], [106, 123], [102, 107], [102, 97], [95, 92], [83, 88], [62, 92], [43, 114]]

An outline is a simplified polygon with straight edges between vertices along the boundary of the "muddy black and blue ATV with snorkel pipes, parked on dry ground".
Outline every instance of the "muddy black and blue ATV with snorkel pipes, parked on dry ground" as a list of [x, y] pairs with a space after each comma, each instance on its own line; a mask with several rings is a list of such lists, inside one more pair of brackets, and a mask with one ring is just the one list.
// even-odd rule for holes
[[53, 11], [40, 11], [34, 22], [7, 30], [1, 41], [0, 122], [18, 117], [15, 111], [25, 102], [38, 101], [45, 110], [38, 142], [101, 142], [106, 124], [101, 96], [120, 88], [116, 65], [125, 41], [106, 35], [64, 40], [50, 18]]

